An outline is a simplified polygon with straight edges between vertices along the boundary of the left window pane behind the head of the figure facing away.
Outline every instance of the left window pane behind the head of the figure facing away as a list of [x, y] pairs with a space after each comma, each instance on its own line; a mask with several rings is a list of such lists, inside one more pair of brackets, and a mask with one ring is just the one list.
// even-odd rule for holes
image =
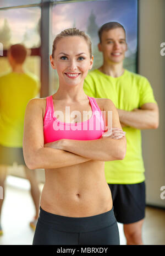
[[[38, 49], [41, 45], [40, 21], [40, 7], [0, 9], [0, 42], [3, 45], [4, 55], [12, 44], [24, 44], [28, 49], [31, 49], [30, 52], [32, 49]], [[32, 51], [32, 55], [27, 57], [24, 66], [40, 78], [40, 56], [38, 51]], [[9, 69], [10, 66], [6, 56], [1, 57], [0, 74], [7, 72]]]

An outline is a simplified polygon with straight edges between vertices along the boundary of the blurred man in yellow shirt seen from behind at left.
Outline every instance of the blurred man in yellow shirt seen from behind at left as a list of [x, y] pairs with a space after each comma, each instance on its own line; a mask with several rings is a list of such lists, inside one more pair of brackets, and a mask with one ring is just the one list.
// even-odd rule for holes
[[[36, 76], [24, 71], [23, 64], [26, 57], [27, 49], [23, 45], [12, 45], [8, 50], [8, 61], [12, 72], [0, 77], [0, 186], [4, 191], [8, 166], [13, 165], [13, 162], [24, 166], [36, 209], [34, 221], [30, 223], [30, 226], [35, 229], [40, 204], [40, 190], [34, 170], [29, 170], [24, 162], [22, 147], [26, 105], [31, 98], [38, 94], [40, 83]], [[0, 200], [0, 217], [2, 203], [3, 200]], [[1, 222], [0, 234], [3, 234]]]

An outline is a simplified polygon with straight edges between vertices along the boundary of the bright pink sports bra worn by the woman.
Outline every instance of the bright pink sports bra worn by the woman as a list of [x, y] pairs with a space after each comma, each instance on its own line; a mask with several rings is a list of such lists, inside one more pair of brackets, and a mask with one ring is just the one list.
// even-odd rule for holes
[[52, 95], [46, 98], [43, 119], [44, 143], [62, 138], [70, 140], [97, 140], [105, 132], [105, 123], [95, 98], [87, 96], [92, 108], [92, 116], [84, 122], [68, 123], [59, 121], [54, 115]]

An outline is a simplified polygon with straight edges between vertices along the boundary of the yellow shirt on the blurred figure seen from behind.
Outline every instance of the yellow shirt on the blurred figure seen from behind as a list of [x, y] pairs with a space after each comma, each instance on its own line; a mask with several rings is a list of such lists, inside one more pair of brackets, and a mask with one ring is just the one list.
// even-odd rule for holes
[[29, 72], [9, 72], [0, 77], [0, 144], [23, 147], [26, 105], [40, 89], [38, 78]]

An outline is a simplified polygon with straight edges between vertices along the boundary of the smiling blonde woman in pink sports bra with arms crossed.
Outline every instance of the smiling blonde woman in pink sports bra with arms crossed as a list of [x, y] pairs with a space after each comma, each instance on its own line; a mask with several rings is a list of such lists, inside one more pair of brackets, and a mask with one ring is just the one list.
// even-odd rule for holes
[[30, 100], [24, 121], [25, 162], [30, 169], [45, 169], [33, 244], [119, 244], [104, 161], [123, 159], [126, 140], [111, 100], [84, 93], [93, 63], [89, 37], [76, 28], [62, 31], [50, 61], [59, 89]]

